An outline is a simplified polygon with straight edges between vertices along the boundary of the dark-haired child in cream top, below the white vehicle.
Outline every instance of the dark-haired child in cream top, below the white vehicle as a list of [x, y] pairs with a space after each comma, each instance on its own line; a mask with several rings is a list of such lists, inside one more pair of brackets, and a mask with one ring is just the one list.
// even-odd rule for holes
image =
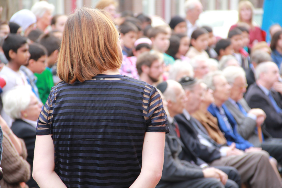
[[200, 28], [193, 31], [191, 35], [190, 49], [186, 56], [190, 59], [196, 55], [203, 55], [209, 58], [209, 55], [205, 51], [209, 44], [208, 39], [209, 34], [206, 29]]

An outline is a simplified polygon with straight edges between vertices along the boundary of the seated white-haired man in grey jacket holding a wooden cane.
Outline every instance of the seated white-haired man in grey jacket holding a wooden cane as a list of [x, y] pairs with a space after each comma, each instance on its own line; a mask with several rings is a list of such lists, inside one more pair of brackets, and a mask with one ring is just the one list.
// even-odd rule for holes
[[[282, 139], [271, 138], [265, 126], [262, 126], [266, 117], [264, 111], [259, 108], [250, 109], [243, 98], [246, 92], [245, 71], [241, 67], [230, 66], [223, 70], [223, 75], [231, 85], [230, 98], [224, 104], [238, 124], [238, 133], [255, 147], [262, 147], [281, 163]], [[264, 139], [264, 135], [269, 138]]]

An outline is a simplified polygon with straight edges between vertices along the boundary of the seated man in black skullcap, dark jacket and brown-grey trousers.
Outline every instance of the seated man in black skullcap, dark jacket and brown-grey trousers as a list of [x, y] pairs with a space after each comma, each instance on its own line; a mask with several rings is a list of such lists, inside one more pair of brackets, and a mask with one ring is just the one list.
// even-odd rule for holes
[[[185, 102], [183, 113], [176, 115], [175, 119], [184, 144], [183, 150], [192, 151], [210, 165], [229, 165], [237, 168], [242, 182], [249, 182], [251, 187], [271, 187], [271, 185], [280, 187], [281, 182], [268, 162], [267, 152], [244, 153], [236, 149], [235, 144], [229, 147], [221, 146], [209, 137], [199, 121], [190, 116], [199, 109], [203, 99], [209, 98], [212, 102], [212, 92], [207, 89], [206, 84], [189, 77], [181, 79], [180, 83], [185, 89], [187, 102]], [[176, 109], [171, 108], [170, 112], [175, 114]], [[187, 156], [183, 154], [181, 158], [185, 159]], [[266, 171], [269, 177], [265, 177]], [[273, 178], [273, 181], [269, 178]]]

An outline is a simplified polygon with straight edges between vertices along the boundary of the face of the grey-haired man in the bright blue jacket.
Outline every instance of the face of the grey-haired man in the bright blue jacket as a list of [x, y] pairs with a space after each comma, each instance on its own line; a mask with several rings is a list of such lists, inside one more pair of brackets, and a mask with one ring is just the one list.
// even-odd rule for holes
[[213, 84], [215, 90], [213, 97], [216, 101], [225, 102], [230, 97], [231, 86], [228, 84], [226, 78], [223, 75], [217, 75], [213, 77]]

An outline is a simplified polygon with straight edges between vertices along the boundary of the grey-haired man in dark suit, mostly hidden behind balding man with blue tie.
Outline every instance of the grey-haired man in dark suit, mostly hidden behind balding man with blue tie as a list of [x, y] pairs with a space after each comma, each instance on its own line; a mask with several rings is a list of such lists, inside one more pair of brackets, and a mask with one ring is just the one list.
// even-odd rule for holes
[[246, 71], [246, 79], [247, 79], [247, 84], [248, 84], [247, 90], [248, 90], [248, 87], [256, 81], [255, 76], [254, 76], [255, 68], [262, 62], [271, 61], [272, 58], [269, 55], [269, 53], [263, 50], [255, 50], [251, 53], [251, 60], [252, 60], [253, 66], [251, 66], [250, 69]]

